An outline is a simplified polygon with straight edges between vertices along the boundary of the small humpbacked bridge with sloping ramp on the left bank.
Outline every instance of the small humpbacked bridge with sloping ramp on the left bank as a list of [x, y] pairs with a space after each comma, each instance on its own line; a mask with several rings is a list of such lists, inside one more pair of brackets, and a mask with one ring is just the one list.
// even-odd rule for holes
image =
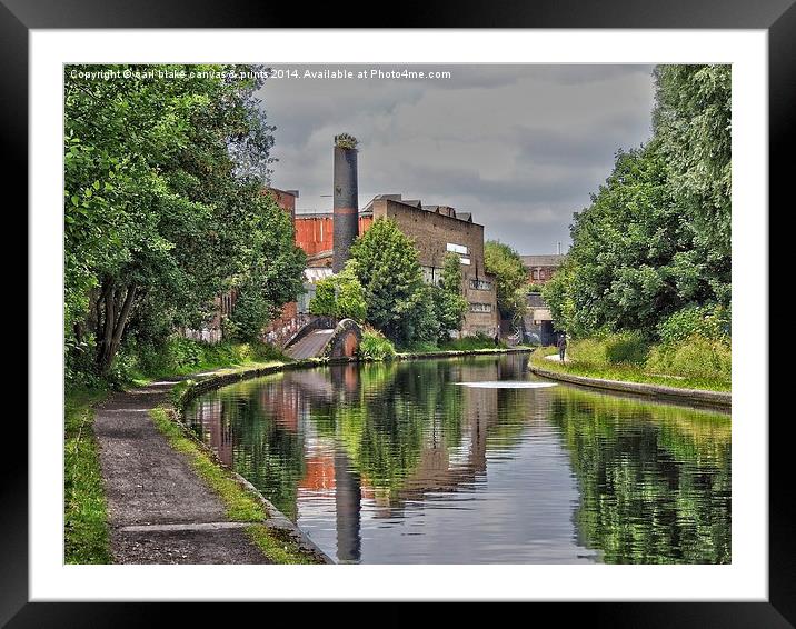
[[362, 329], [354, 319], [312, 319], [286, 343], [290, 358], [342, 358], [356, 356]]

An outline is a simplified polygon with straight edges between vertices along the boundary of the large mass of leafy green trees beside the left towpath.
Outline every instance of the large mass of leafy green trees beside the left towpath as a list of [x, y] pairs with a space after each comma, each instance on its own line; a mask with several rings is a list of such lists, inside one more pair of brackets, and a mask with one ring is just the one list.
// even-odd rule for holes
[[[79, 73], [109, 70], [128, 77]], [[64, 69], [66, 345], [71, 353], [94, 338], [103, 375], [128, 323], [141, 333], [153, 322], [199, 325], [219, 292], [263, 288], [255, 277], [263, 269], [286, 278], [266, 300], [288, 300], [300, 287], [289, 226], [270, 232], [283, 214], [261, 194], [272, 128], [253, 96], [261, 80], [247, 70]]]

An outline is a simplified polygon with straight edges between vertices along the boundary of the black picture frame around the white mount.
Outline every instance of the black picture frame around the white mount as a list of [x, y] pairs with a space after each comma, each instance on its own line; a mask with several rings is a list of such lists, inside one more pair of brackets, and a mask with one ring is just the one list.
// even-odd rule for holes
[[[389, 28], [611, 28], [611, 29], [764, 29], [769, 60], [769, 191], [785, 200], [786, 174], [792, 177], [796, 119], [796, 4], [795, 0], [574, 0], [553, 2], [487, 2], [448, 0], [400, 4], [389, 13]], [[27, 181], [28, 168], [28, 36], [31, 29], [72, 28], [319, 28], [377, 27], [372, 4], [347, 2], [297, 10], [292, 3], [242, 0], [0, 0], [0, 137], [7, 158], [4, 180]], [[297, 19], [298, 16], [298, 19]], [[786, 170], [788, 171], [786, 173]], [[17, 184], [17, 187], [19, 187]], [[789, 201], [789, 204], [793, 204]], [[10, 211], [10, 207], [7, 211]], [[759, 209], [768, 214], [767, 208]], [[29, 329], [29, 335], [31, 330]], [[758, 340], [760, 348], [768, 339]], [[767, 360], [767, 358], [765, 359]], [[742, 367], [743, 369], [743, 367]], [[36, 373], [29, 375], [31, 378]], [[0, 625], [8, 627], [146, 626], [163, 620], [169, 603], [29, 602], [28, 597], [28, 461], [27, 427], [6, 422], [7, 442], [19, 458], [1, 459], [2, 509], [0, 522]], [[766, 418], [742, 418], [760, 421]], [[544, 603], [566, 621], [614, 627], [794, 627], [796, 626], [796, 536], [792, 531], [793, 500], [786, 468], [786, 417], [769, 423], [769, 598], [767, 602], [601, 602]], [[23, 448], [21, 445], [26, 443]], [[9, 448], [10, 449], [10, 448]], [[742, 473], [742, 472], [737, 472]], [[617, 598], [621, 592], [616, 593]], [[356, 592], [351, 592], [356, 599]], [[173, 603], [171, 603], [173, 605]], [[391, 603], [397, 605], [397, 603]], [[361, 608], [357, 608], [361, 610]], [[469, 612], [457, 606], [455, 617]], [[302, 622], [315, 620], [318, 606], [302, 606]], [[185, 606], [182, 623], [229, 621], [228, 608]], [[360, 611], [361, 613], [361, 611]], [[448, 612], [451, 613], [451, 612]], [[276, 618], [275, 611], [269, 618]], [[318, 619], [324, 617], [317, 616]], [[364, 622], [367, 622], [362, 616]], [[377, 619], [381, 620], [377, 620]], [[385, 615], [374, 619], [399, 620]], [[411, 616], [404, 618], [411, 619]], [[539, 618], [546, 618], [539, 617]], [[328, 620], [328, 612], [326, 613]], [[395, 622], [394, 620], [394, 622]]]

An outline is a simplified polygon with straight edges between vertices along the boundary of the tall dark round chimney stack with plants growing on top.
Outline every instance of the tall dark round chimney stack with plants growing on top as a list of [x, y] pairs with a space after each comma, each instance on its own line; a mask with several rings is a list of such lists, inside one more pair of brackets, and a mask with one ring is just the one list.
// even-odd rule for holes
[[359, 233], [359, 190], [357, 182], [357, 139], [348, 133], [335, 136], [335, 250], [331, 272], [346, 266], [351, 244]]

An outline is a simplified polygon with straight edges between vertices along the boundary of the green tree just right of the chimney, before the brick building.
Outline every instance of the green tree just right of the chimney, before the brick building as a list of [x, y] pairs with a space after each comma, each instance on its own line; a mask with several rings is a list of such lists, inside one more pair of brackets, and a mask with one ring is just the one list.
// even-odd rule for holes
[[365, 289], [367, 322], [397, 345], [437, 339], [430, 287], [422, 281], [415, 243], [395, 221], [380, 218], [351, 247]]

